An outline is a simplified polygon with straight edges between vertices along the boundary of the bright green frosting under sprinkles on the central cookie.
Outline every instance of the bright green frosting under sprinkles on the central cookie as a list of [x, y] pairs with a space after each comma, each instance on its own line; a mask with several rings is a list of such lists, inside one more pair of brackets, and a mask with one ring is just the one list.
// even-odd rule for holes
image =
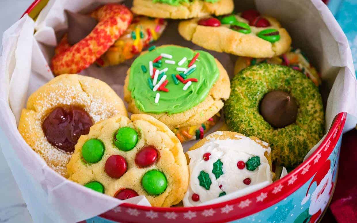
[[[192, 85], [188, 87], [186, 91], [182, 90], [184, 84], [179, 82], [177, 85], [172, 79], [171, 74], [179, 74], [176, 71], [177, 67], [185, 67], [189, 64], [190, 60], [198, 53], [198, 60], [195, 62], [196, 70], [186, 78], [196, 78], [198, 82], [192, 82]], [[169, 83], [165, 86], [169, 92], [164, 91], [152, 91], [148, 78], [149, 72], [144, 73], [141, 69], [141, 65], [149, 66], [149, 61], [154, 60], [160, 54], [170, 54], [172, 59], [162, 59], [162, 67], [160, 70], [167, 67], [166, 80]], [[177, 63], [183, 58], [187, 57], [187, 60], [181, 66]], [[174, 65], [166, 64], [165, 60], [174, 60]], [[143, 112], [148, 113], [164, 113], [169, 114], [180, 113], [187, 111], [190, 108], [198, 105], [204, 101], [210, 92], [213, 84], [219, 77], [219, 70], [214, 57], [205, 51], [193, 51], [189, 48], [178, 46], [165, 46], [157, 47], [155, 50], [147, 52], [139, 56], [132, 64], [130, 68], [129, 86], [128, 90], [131, 92], [131, 97], [135, 100], [136, 107]], [[160, 93], [159, 103], [155, 103], [156, 93]]]

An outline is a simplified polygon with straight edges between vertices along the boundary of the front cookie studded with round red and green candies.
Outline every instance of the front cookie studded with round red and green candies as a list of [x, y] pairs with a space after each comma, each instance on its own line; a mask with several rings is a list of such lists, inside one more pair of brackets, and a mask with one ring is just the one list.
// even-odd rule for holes
[[70, 180], [95, 191], [118, 199], [144, 195], [154, 207], [179, 203], [188, 185], [180, 141], [144, 114], [93, 125], [79, 138], [67, 170]]

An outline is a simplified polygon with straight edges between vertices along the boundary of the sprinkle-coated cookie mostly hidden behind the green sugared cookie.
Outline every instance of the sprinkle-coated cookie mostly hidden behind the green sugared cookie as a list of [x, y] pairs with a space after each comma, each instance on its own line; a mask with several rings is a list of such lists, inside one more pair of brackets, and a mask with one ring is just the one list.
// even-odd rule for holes
[[268, 64], [281, 64], [289, 66], [292, 69], [298, 70], [305, 74], [312, 80], [313, 83], [315, 83], [316, 86], [321, 85], [320, 74], [316, 71], [315, 67], [311, 65], [306, 54], [300, 49], [294, 49], [292, 47], [290, 47], [290, 49], [284, 54], [272, 58], [238, 57], [234, 68], [234, 74], [238, 74], [242, 69], [248, 66], [265, 62]]

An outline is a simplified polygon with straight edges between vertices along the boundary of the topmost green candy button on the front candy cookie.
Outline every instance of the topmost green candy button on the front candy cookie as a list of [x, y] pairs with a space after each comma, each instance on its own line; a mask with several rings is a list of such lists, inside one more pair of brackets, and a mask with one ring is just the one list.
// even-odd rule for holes
[[119, 128], [115, 135], [115, 146], [122, 151], [129, 151], [133, 149], [137, 143], [137, 132], [130, 127]]

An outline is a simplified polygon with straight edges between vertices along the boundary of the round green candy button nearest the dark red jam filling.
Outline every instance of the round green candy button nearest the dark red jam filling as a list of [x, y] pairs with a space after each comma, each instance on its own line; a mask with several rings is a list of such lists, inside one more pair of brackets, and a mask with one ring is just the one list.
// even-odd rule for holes
[[90, 139], [82, 146], [82, 156], [89, 163], [100, 161], [104, 154], [104, 144], [97, 139]]

